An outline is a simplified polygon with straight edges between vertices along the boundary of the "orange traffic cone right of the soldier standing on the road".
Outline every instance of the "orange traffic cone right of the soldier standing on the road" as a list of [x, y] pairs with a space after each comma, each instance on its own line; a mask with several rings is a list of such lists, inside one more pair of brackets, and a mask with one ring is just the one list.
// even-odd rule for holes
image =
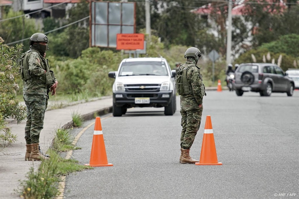
[[217, 153], [214, 141], [211, 116], [207, 115], [204, 137], [202, 139], [202, 151], [200, 153], [199, 162], [196, 165], [222, 165], [217, 160]]

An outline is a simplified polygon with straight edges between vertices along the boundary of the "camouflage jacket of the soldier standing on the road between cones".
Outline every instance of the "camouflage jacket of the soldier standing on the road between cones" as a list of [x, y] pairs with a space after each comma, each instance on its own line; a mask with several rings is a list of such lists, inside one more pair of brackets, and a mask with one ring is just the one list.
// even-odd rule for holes
[[[185, 64], [194, 64], [192, 58], [188, 58]], [[184, 67], [182, 64], [180, 67]], [[202, 82], [202, 74], [199, 67], [191, 67], [187, 70], [187, 81], [190, 83], [192, 89], [190, 94], [181, 95], [181, 105], [199, 105], [202, 104], [202, 98], [205, 95], [205, 87]]]

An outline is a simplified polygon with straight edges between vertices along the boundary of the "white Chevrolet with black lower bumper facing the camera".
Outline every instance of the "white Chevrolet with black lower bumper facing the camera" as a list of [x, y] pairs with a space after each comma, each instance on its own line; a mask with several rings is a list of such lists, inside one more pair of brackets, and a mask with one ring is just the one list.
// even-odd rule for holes
[[165, 115], [176, 112], [176, 71], [165, 58], [126, 58], [109, 77], [113, 84], [113, 116], [131, 107], [164, 107]]

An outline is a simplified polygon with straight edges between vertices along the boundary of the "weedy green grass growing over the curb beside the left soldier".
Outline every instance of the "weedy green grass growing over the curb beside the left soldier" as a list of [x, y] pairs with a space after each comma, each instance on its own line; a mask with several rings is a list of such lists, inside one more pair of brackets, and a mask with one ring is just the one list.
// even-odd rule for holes
[[51, 156], [49, 160], [41, 161], [36, 171], [33, 166], [27, 173], [27, 179], [20, 182], [20, 187], [15, 190], [21, 198], [28, 199], [50, 199], [59, 194], [58, 183], [60, 176], [72, 172], [93, 169], [90, 166], [80, 165], [77, 160], [65, 159], [60, 156], [61, 152], [80, 149], [73, 145], [74, 138], [71, 129], [57, 129], [53, 145], [47, 153]]

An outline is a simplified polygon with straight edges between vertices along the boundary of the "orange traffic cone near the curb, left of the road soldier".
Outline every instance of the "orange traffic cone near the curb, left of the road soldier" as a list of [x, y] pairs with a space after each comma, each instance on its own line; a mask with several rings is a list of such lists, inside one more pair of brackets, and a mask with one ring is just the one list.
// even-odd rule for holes
[[100, 117], [95, 118], [89, 164], [87, 166], [113, 166], [108, 163]]

